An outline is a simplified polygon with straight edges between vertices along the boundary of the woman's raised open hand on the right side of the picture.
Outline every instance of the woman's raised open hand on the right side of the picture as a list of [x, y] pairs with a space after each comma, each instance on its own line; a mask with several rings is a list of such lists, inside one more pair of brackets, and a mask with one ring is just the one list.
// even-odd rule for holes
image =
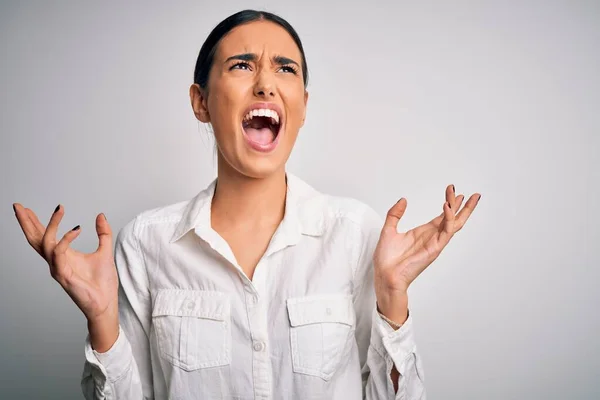
[[380, 312], [392, 320], [395, 317], [404, 321], [399, 315], [406, 312], [409, 285], [462, 229], [480, 197], [478, 193], [473, 194], [458, 212], [464, 196], [455, 196], [454, 185], [449, 185], [444, 211], [428, 223], [404, 233], [398, 232], [397, 226], [406, 211], [406, 199], [401, 198], [388, 211], [373, 254], [375, 292]]

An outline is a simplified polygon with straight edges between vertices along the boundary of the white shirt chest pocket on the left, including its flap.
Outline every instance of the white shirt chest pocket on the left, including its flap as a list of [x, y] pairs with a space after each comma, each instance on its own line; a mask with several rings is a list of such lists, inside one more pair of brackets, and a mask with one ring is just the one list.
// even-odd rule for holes
[[159, 289], [152, 309], [163, 358], [186, 371], [231, 363], [231, 308], [224, 292]]

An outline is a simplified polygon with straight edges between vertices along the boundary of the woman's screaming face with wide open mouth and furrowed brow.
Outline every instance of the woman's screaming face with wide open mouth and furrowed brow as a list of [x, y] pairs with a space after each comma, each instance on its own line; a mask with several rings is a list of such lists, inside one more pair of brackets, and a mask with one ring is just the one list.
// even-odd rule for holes
[[263, 178], [284, 168], [304, 124], [300, 49], [281, 26], [255, 21], [221, 39], [206, 91], [190, 88], [196, 117], [213, 126], [219, 161]]

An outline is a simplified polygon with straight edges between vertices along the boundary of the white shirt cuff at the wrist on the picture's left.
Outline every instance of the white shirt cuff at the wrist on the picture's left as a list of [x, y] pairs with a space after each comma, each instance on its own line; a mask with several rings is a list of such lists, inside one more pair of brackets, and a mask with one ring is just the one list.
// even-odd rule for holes
[[104, 353], [99, 353], [92, 349], [90, 343], [90, 335], [85, 338], [85, 356], [86, 360], [95, 365], [101, 372], [102, 376], [95, 376], [98, 383], [104, 383], [106, 379], [111, 382], [118, 380], [125, 374], [131, 366], [133, 352], [131, 344], [123, 332], [123, 328], [119, 325], [119, 336], [117, 340]]

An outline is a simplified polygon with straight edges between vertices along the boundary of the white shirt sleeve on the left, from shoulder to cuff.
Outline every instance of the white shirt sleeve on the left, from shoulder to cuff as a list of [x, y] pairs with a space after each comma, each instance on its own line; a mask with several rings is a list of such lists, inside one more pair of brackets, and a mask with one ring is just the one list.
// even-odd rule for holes
[[148, 332], [151, 301], [148, 276], [136, 237], [136, 217], [119, 232], [115, 264], [119, 276], [119, 336], [104, 353], [85, 338], [81, 389], [86, 400], [153, 399]]

